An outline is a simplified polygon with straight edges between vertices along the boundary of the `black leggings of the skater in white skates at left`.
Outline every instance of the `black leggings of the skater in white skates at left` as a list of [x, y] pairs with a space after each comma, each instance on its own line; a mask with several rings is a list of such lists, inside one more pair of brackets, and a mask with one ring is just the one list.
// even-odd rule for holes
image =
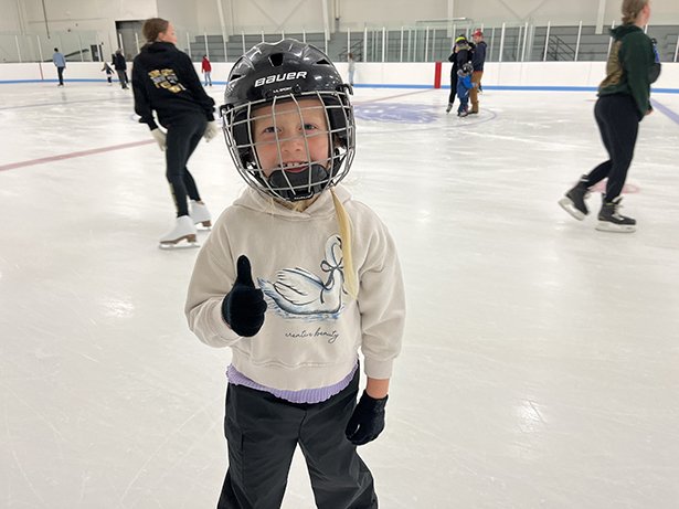
[[206, 126], [208, 119], [201, 114], [185, 115], [168, 126], [166, 177], [170, 182], [178, 218], [189, 215], [187, 195], [195, 201], [201, 199], [187, 162], [205, 132]]

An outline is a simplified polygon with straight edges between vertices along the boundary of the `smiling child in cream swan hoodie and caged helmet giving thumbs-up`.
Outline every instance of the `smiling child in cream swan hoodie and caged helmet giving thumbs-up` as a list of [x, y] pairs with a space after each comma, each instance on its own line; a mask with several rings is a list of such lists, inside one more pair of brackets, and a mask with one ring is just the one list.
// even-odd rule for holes
[[229, 77], [224, 131], [250, 188], [214, 224], [185, 306], [201, 341], [232, 349], [220, 509], [280, 507], [297, 445], [318, 507], [378, 507], [356, 447], [384, 428], [405, 299], [386, 227], [339, 185], [350, 91], [289, 39], [255, 45]]

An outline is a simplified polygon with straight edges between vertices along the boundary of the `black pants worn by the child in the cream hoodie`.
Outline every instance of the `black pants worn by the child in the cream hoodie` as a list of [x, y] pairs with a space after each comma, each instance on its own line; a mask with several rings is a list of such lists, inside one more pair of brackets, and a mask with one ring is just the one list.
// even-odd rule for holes
[[229, 470], [218, 509], [277, 509], [297, 444], [319, 509], [376, 509], [372, 474], [344, 436], [359, 372], [339, 394], [297, 404], [229, 384], [225, 435]]

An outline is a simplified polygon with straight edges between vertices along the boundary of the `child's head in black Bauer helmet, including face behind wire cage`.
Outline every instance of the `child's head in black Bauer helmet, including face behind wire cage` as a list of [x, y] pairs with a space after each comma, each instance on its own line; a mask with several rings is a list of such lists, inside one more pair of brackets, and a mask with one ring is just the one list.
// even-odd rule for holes
[[[232, 70], [221, 115], [231, 157], [247, 184], [298, 201], [339, 183], [356, 148], [351, 92], [311, 45], [283, 40], [244, 55]], [[266, 132], [256, 132], [255, 123]], [[326, 138], [327, 151], [318, 148], [318, 137]]]

